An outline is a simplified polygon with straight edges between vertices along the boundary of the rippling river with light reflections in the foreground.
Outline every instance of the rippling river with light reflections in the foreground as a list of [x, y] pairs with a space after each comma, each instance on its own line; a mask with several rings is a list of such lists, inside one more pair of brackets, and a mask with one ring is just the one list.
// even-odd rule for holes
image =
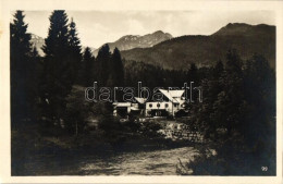
[[193, 147], [167, 150], [120, 152], [111, 156], [79, 156], [33, 159], [27, 175], [175, 175], [179, 159], [189, 161]]

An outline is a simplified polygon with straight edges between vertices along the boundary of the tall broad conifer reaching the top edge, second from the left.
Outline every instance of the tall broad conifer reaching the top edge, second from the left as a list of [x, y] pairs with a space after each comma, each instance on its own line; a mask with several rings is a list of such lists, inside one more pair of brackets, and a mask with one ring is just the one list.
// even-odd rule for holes
[[59, 121], [65, 109], [65, 97], [74, 83], [74, 63], [70, 59], [70, 35], [67, 15], [64, 11], [53, 11], [48, 36], [42, 50], [45, 52], [41, 98], [45, 101], [45, 115]]

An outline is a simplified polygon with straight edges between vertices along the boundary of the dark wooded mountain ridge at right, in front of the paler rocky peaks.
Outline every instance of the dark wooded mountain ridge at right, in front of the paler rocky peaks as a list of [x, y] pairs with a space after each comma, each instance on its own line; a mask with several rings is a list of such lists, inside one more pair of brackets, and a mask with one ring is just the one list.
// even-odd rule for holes
[[151, 48], [121, 51], [121, 56], [163, 69], [187, 70], [190, 63], [212, 66], [219, 60], [225, 61], [229, 49], [236, 49], [244, 60], [262, 53], [275, 68], [275, 26], [230, 23], [209, 36], [185, 35]]

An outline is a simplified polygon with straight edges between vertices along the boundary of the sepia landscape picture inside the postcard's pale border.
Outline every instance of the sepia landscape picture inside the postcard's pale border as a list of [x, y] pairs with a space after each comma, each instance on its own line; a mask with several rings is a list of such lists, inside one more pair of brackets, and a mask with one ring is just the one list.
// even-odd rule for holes
[[11, 177], [282, 174], [275, 9], [148, 3], [7, 11]]

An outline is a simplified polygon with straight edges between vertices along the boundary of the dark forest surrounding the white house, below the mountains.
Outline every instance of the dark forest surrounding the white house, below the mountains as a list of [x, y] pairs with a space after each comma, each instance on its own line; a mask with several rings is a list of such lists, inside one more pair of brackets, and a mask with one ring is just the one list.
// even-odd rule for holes
[[[192, 63], [182, 70], [125, 60], [118, 48], [111, 52], [108, 45], [95, 57], [89, 48], [82, 49], [74, 20], [64, 11], [53, 11], [42, 47], [45, 57], [39, 57], [24, 17], [23, 11], [16, 11], [10, 24], [12, 174], [21, 173], [19, 163], [35, 155], [30, 147], [42, 144], [44, 136], [72, 137], [72, 144], [88, 144], [91, 149], [86, 142], [102, 137], [116, 147], [125, 139], [120, 134], [138, 132], [137, 124], [115, 120], [110, 102], [85, 100], [84, 89], [94, 82], [109, 87], [143, 82], [149, 88], [195, 82], [204, 90], [204, 101], [189, 105], [189, 123], [218, 154], [202, 154], [185, 168], [196, 175], [275, 174], [275, 72], [263, 53], [243, 59], [227, 48], [226, 57], [212, 66]], [[86, 128], [90, 116], [99, 120], [100, 132], [95, 135]], [[41, 145], [37, 149], [56, 148]]]

